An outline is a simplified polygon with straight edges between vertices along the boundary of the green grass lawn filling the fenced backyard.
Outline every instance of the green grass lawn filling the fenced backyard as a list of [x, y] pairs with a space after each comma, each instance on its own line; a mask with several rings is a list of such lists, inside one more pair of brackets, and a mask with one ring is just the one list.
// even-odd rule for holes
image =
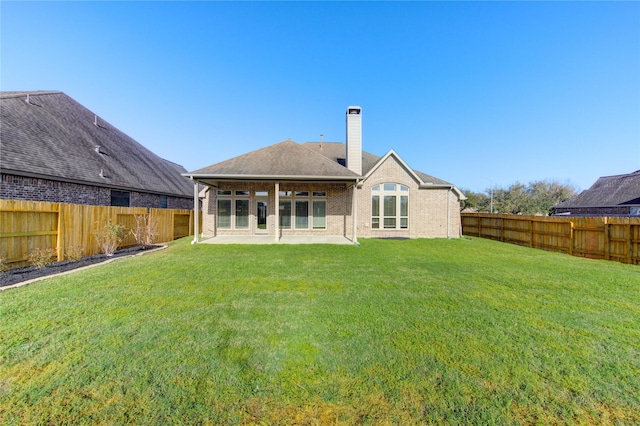
[[473, 240], [191, 246], [0, 294], [2, 424], [640, 422], [640, 268]]

